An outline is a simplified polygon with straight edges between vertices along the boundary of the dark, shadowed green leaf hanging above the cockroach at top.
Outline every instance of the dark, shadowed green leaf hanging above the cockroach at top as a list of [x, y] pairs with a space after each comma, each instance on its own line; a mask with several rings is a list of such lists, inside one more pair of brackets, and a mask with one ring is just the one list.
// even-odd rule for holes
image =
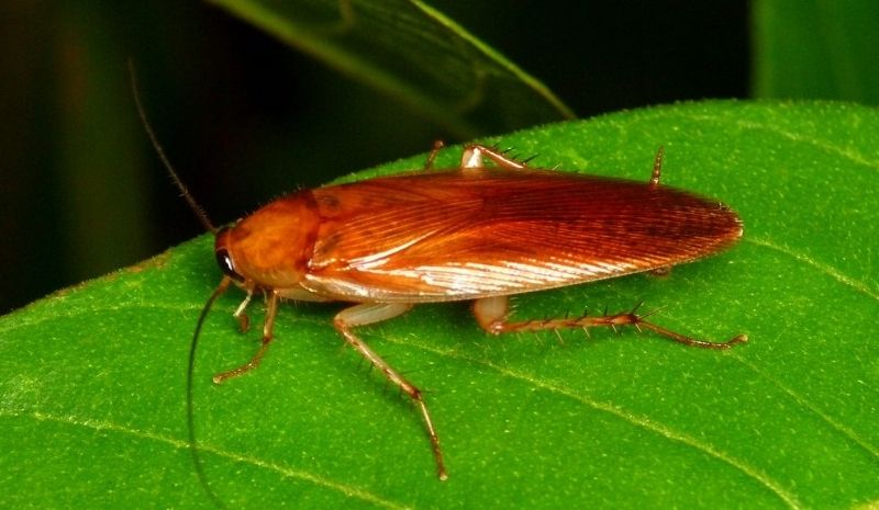
[[543, 83], [420, 1], [211, 1], [464, 138], [574, 117]]

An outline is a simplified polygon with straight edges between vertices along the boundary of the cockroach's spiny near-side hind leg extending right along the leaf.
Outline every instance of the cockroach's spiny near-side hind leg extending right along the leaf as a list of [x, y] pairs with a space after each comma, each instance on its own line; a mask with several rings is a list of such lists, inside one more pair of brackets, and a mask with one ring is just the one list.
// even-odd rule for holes
[[492, 296], [483, 297], [474, 302], [474, 316], [479, 326], [489, 333], [501, 335], [513, 331], [538, 331], [542, 329], [568, 329], [568, 328], [588, 328], [605, 327], [614, 331], [617, 326], [634, 326], [638, 330], [642, 328], [649, 329], [666, 338], [675, 340], [676, 342], [683, 343], [685, 345], [698, 347], [702, 349], [730, 349], [736, 343], [744, 343], [747, 341], [746, 335], [738, 335], [726, 340], [725, 342], [711, 342], [706, 340], [697, 340], [691, 337], [677, 333], [661, 326], [645, 320], [646, 317], [655, 314], [637, 314], [637, 306], [631, 311], [624, 311], [615, 315], [608, 315], [607, 313], [601, 317], [570, 317], [561, 319], [543, 319], [543, 320], [521, 320], [511, 322], [508, 320], [509, 314], [509, 299], [507, 296]]

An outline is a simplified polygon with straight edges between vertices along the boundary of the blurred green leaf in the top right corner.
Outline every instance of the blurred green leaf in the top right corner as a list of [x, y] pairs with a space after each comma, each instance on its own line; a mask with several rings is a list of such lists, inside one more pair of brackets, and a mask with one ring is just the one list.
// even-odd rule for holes
[[758, 98], [879, 104], [879, 2], [753, 3]]

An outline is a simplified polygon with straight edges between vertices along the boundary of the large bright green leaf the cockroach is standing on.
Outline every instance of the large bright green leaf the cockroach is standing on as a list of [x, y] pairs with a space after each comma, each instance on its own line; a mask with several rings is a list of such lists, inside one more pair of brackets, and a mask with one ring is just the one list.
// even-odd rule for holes
[[[666, 277], [514, 298], [515, 317], [661, 307], [731, 351], [624, 329], [488, 337], [466, 304], [358, 331], [425, 388], [416, 411], [342, 347], [340, 309], [285, 304], [263, 365], [231, 291], [196, 366], [207, 476], [229, 508], [852, 508], [879, 500], [879, 113], [838, 103], [687, 103], [496, 141], [535, 165], [664, 182], [745, 222], [732, 250]], [[455, 149], [441, 155], [454, 165]], [[423, 156], [356, 179], [418, 168]], [[559, 242], [564, 242], [559, 239]], [[4, 508], [204, 508], [185, 421], [190, 335], [220, 279], [205, 236], [0, 319]], [[252, 305], [254, 325], [262, 306]]]

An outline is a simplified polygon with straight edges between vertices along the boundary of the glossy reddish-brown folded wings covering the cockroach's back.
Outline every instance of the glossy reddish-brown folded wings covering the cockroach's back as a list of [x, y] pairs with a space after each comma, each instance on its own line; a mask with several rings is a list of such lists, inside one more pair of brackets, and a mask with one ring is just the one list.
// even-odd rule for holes
[[341, 301], [531, 292], [690, 261], [742, 235], [717, 202], [555, 171], [422, 172], [313, 194], [322, 224], [302, 285]]

